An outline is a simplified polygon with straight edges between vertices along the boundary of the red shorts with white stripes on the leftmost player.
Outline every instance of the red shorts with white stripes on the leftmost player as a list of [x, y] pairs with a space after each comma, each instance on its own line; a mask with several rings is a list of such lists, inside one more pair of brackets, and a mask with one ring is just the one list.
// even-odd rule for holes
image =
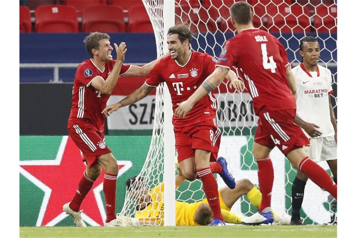
[[68, 132], [76, 146], [82, 151], [83, 161], [90, 168], [97, 163], [99, 156], [111, 153], [111, 150], [105, 145], [103, 132], [78, 124], [69, 127]]

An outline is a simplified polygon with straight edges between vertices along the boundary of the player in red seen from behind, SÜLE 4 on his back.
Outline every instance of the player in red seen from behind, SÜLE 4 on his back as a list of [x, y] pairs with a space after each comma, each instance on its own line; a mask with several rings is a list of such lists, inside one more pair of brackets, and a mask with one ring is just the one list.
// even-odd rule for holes
[[258, 164], [262, 202], [259, 211], [243, 219], [242, 223], [267, 224], [273, 221], [270, 200], [274, 171], [270, 151], [275, 146], [295, 168], [337, 199], [337, 185], [302, 148], [309, 144], [309, 140], [294, 124], [296, 103], [293, 94], [296, 94], [296, 87], [284, 47], [273, 35], [253, 27], [251, 9], [246, 2], [233, 4], [230, 14], [238, 34], [226, 42], [215, 71], [188, 100], [180, 103], [176, 115], [178, 118], [189, 115], [196, 102], [215, 89], [230, 67], [235, 65], [249, 88], [255, 114], [259, 116], [252, 152]]

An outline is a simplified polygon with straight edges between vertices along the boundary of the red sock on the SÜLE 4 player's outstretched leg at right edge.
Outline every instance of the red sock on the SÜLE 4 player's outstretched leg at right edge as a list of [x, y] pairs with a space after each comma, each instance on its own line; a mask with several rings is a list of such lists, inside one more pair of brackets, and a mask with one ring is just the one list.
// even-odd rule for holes
[[328, 175], [325, 169], [321, 168], [307, 156], [300, 161], [297, 168], [305, 173], [317, 186], [331, 193], [337, 200], [337, 185], [332, 182], [330, 175]]

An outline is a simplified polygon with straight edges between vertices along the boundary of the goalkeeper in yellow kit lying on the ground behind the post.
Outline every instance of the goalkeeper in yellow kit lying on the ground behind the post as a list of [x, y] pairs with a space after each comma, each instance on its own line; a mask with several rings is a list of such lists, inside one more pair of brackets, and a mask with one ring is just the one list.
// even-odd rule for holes
[[[186, 179], [182, 176], [180, 169], [176, 175], [176, 188]], [[118, 217], [122, 226], [135, 225], [164, 225], [164, 183], [158, 184], [152, 189], [145, 186], [142, 177], [132, 177], [126, 182], [127, 192], [137, 199], [135, 218]], [[262, 195], [260, 191], [248, 180], [236, 181], [236, 187], [230, 189], [227, 186], [218, 190], [220, 198], [221, 213], [227, 223], [241, 224], [242, 217], [230, 212], [233, 204], [240, 197], [247, 194], [248, 199], [254, 206], [259, 206]], [[195, 202], [176, 201], [176, 226], [206, 226], [212, 222], [212, 210], [208, 206], [207, 198]], [[274, 213], [274, 223], [276, 225], [289, 224], [287, 218], [280, 218]]]

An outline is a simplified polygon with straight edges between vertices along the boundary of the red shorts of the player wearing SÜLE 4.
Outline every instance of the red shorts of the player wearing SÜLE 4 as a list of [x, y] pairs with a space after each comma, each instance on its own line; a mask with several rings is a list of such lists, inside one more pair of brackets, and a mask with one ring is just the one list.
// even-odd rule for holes
[[271, 111], [264, 107], [259, 112], [258, 128], [254, 141], [274, 148], [277, 146], [284, 155], [310, 144], [300, 126], [295, 125], [295, 109]]

